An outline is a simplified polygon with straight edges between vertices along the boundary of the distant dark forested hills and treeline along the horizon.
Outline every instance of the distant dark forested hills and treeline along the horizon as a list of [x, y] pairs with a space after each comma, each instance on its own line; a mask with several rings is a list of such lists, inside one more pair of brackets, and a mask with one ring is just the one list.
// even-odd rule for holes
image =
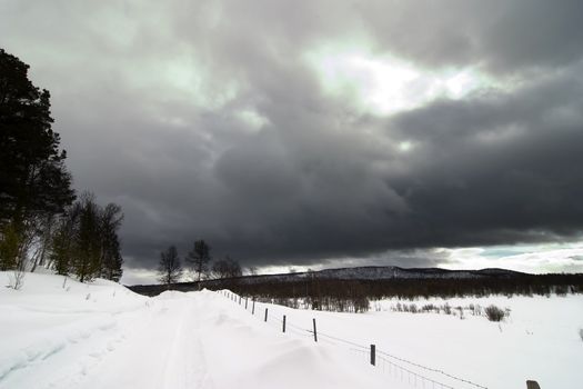
[[[165, 290], [159, 286], [130, 287], [133, 291], [155, 296]], [[238, 277], [199, 282], [181, 282], [170, 286], [180, 291], [208, 288], [230, 289], [258, 301], [273, 302], [292, 308], [363, 312], [370, 300], [384, 298], [453, 298], [505, 296], [551, 296], [556, 293], [583, 293], [583, 275], [524, 275], [476, 277], [471, 279], [408, 278], [382, 280], [341, 280], [310, 277], [275, 280], [264, 277]]]

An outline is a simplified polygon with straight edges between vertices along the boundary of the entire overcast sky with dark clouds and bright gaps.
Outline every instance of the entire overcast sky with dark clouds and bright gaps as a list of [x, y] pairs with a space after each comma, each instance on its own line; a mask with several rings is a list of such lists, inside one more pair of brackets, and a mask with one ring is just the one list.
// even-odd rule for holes
[[583, 271], [583, 2], [0, 0], [124, 281], [203, 238], [263, 271]]

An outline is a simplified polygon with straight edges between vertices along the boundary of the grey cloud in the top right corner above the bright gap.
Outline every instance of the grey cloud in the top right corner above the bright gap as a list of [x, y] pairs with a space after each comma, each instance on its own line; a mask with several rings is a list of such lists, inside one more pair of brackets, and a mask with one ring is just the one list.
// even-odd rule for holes
[[358, 8], [380, 47], [428, 66], [513, 73], [583, 56], [577, 0], [369, 1]]

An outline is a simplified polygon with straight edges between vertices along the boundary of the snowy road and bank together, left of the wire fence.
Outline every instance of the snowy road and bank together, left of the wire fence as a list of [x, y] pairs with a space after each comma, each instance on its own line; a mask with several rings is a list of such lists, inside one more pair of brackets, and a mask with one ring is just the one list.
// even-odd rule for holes
[[28, 281], [0, 298], [10, 313], [0, 320], [0, 388], [388, 387], [348, 352], [283, 335], [220, 293], [148, 299], [108, 282]]

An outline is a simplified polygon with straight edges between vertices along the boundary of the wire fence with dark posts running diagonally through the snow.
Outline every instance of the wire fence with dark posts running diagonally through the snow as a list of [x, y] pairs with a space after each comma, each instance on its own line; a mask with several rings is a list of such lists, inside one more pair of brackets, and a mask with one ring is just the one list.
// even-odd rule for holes
[[[389, 373], [393, 377], [393, 379], [401, 380], [402, 382], [405, 382], [412, 387], [423, 389], [462, 389], [462, 387], [460, 386], [454, 387], [450, 383], [443, 382], [442, 380], [445, 379], [445, 381], [451, 380], [456, 382], [454, 385], [462, 385], [463, 387], [470, 386], [472, 388], [487, 389], [482, 385], [448, 373], [442, 369], [424, 366], [412, 360], [385, 352], [383, 350], [379, 350], [374, 345], [364, 346], [352, 340], [348, 340], [338, 336], [330, 335], [328, 332], [316, 330], [315, 319], [313, 319], [312, 329], [300, 327], [298, 325], [289, 322], [289, 320], [280, 319], [279, 317], [273, 315], [271, 317], [271, 320], [269, 320], [269, 308], [265, 306], [273, 307], [273, 305], [257, 302], [254, 299], [249, 300], [248, 298], [242, 298], [241, 296], [238, 296], [228, 290], [221, 290], [219, 291], [219, 293], [229, 298], [231, 301], [235, 303], [238, 302], [240, 306], [243, 306], [245, 310], [252, 310], [253, 313], [258, 312], [260, 318], [262, 318], [262, 321], [267, 322], [271, 327], [274, 327], [273, 325], [277, 325], [279, 329], [283, 329], [284, 332], [290, 332], [301, 337], [309, 337], [320, 342], [323, 341], [325, 343], [330, 343], [336, 347], [342, 347], [353, 356], [356, 356], [356, 358], [362, 359], [366, 363], [373, 365], [375, 368], [379, 369], [379, 371], [382, 371], [383, 373]], [[258, 311], [258, 308], [260, 306], [262, 306], [262, 308], [264, 309], [263, 312]], [[425, 373], [421, 373], [419, 370], [425, 371]], [[439, 380], [435, 377], [429, 377], [429, 375], [442, 377], [442, 380]]]

